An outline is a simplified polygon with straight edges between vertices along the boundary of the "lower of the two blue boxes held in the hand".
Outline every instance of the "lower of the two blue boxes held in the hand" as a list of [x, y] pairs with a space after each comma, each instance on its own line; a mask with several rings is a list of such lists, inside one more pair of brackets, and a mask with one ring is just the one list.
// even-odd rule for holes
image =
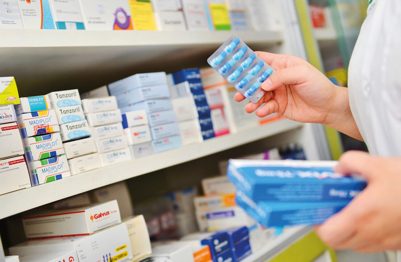
[[254, 202], [241, 191], [237, 191], [235, 202], [265, 227], [322, 224], [349, 203], [349, 201]]

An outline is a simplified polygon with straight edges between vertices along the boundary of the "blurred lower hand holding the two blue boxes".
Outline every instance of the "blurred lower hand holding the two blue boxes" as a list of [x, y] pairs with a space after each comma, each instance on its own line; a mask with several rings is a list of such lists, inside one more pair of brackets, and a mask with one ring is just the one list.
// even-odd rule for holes
[[401, 157], [348, 151], [335, 171], [361, 174], [368, 186], [341, 212], [315, 227], [320, 238], [334, 249], [401, 250]]

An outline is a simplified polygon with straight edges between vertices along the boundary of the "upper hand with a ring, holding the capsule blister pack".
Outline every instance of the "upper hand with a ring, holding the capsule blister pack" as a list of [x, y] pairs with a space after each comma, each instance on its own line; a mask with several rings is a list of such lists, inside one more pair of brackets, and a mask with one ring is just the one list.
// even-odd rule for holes
[[[325, 123], [333, 104], [336, 103], [336, 85], [305, 60], [290, 55], [256, 52], [275, 72], [262, 83], [266, 94], [258, 103], [245, 107], [247, 113], [257, 110], [258, 117], [279, 113], [299, 122]], [[270, 91], [274, 92], [270, 100]], [[241, 93], [236, 101], [243, 101]]]

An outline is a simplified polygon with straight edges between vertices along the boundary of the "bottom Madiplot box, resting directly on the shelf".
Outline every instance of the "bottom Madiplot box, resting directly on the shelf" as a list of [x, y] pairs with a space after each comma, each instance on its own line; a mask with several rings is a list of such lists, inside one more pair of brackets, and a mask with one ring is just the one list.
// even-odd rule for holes
[[28, 169], [32, 185], [52, 182], [71, 175], [65, 155], [28, 162]]

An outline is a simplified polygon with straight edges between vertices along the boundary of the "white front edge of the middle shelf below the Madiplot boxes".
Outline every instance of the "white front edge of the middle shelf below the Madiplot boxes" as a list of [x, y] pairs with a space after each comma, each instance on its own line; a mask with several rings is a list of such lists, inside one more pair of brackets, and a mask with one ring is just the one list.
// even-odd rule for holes
[[0, 219], [91, 189], [191, 161], [302, 126], [302, 123], [280, 119], [253, 129], [209, 139], [202, 143], [156, 153], [43, 185], [0, 195], [0, 210], [2, 210], [0, 212]]

